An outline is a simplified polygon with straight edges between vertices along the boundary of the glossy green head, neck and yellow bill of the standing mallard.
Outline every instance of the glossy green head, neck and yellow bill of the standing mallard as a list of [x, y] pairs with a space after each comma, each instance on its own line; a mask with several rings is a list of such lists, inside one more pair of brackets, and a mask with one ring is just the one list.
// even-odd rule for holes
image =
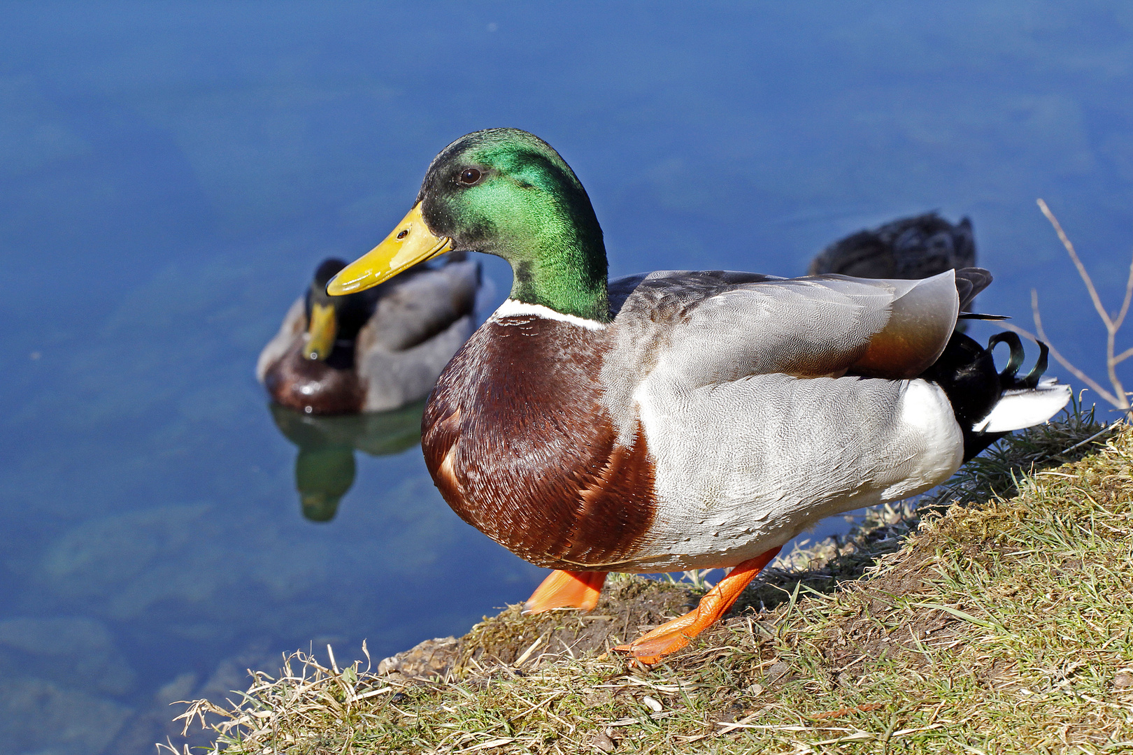
[[512, 299], [610, 319], [606, 250], [590, 198], [559, 153], [533, 134], [488, 129], [445, 147], [409, 214], [327, 292], [363, 291], [449, 250], [506, 259]]

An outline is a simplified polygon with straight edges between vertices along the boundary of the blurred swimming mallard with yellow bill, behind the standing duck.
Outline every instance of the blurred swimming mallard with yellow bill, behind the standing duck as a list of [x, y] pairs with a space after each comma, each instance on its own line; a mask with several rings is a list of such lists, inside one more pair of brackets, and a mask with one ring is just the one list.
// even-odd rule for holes
[[308, 414], [397, 409], [424, 398], [475, 327], [479, 264], [450, 256], [348, 297], [326, 283], [346, 267], [323, 260], [307, 293], [256, 362], [278, 403]]

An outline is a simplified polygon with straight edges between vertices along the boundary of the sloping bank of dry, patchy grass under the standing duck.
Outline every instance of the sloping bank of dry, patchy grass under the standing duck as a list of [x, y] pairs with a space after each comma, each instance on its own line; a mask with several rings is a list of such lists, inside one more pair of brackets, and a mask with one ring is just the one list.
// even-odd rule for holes
[[1098, 429], [1002, 443], [655, 667], [605, 651], [696, 590], [620, 577], [589, 616], [512, 607], [375, 672], [293, 657], [191, 723], [232, 754], [1133, 752], [1133, 430], [1072, 448]]

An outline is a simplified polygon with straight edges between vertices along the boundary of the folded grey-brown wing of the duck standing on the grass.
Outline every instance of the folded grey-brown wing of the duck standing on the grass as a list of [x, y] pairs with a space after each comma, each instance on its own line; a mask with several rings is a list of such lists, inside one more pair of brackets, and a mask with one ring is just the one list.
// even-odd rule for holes
[[689, 388], [770, 374], [911, 378], [944, 351], [959, 311], [953, 271], [921, 281], [658, 272], [625, 298], [607, 361]]

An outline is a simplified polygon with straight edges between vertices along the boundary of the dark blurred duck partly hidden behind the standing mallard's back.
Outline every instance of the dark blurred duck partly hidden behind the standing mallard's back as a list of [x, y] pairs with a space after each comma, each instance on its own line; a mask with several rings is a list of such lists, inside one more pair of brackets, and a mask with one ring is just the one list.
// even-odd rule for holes
[[963, 217], [953, 225], [925, 213], [835, 241], [811, 260], [807, 274], [914, 280], [974, 266], [972, 222]]

